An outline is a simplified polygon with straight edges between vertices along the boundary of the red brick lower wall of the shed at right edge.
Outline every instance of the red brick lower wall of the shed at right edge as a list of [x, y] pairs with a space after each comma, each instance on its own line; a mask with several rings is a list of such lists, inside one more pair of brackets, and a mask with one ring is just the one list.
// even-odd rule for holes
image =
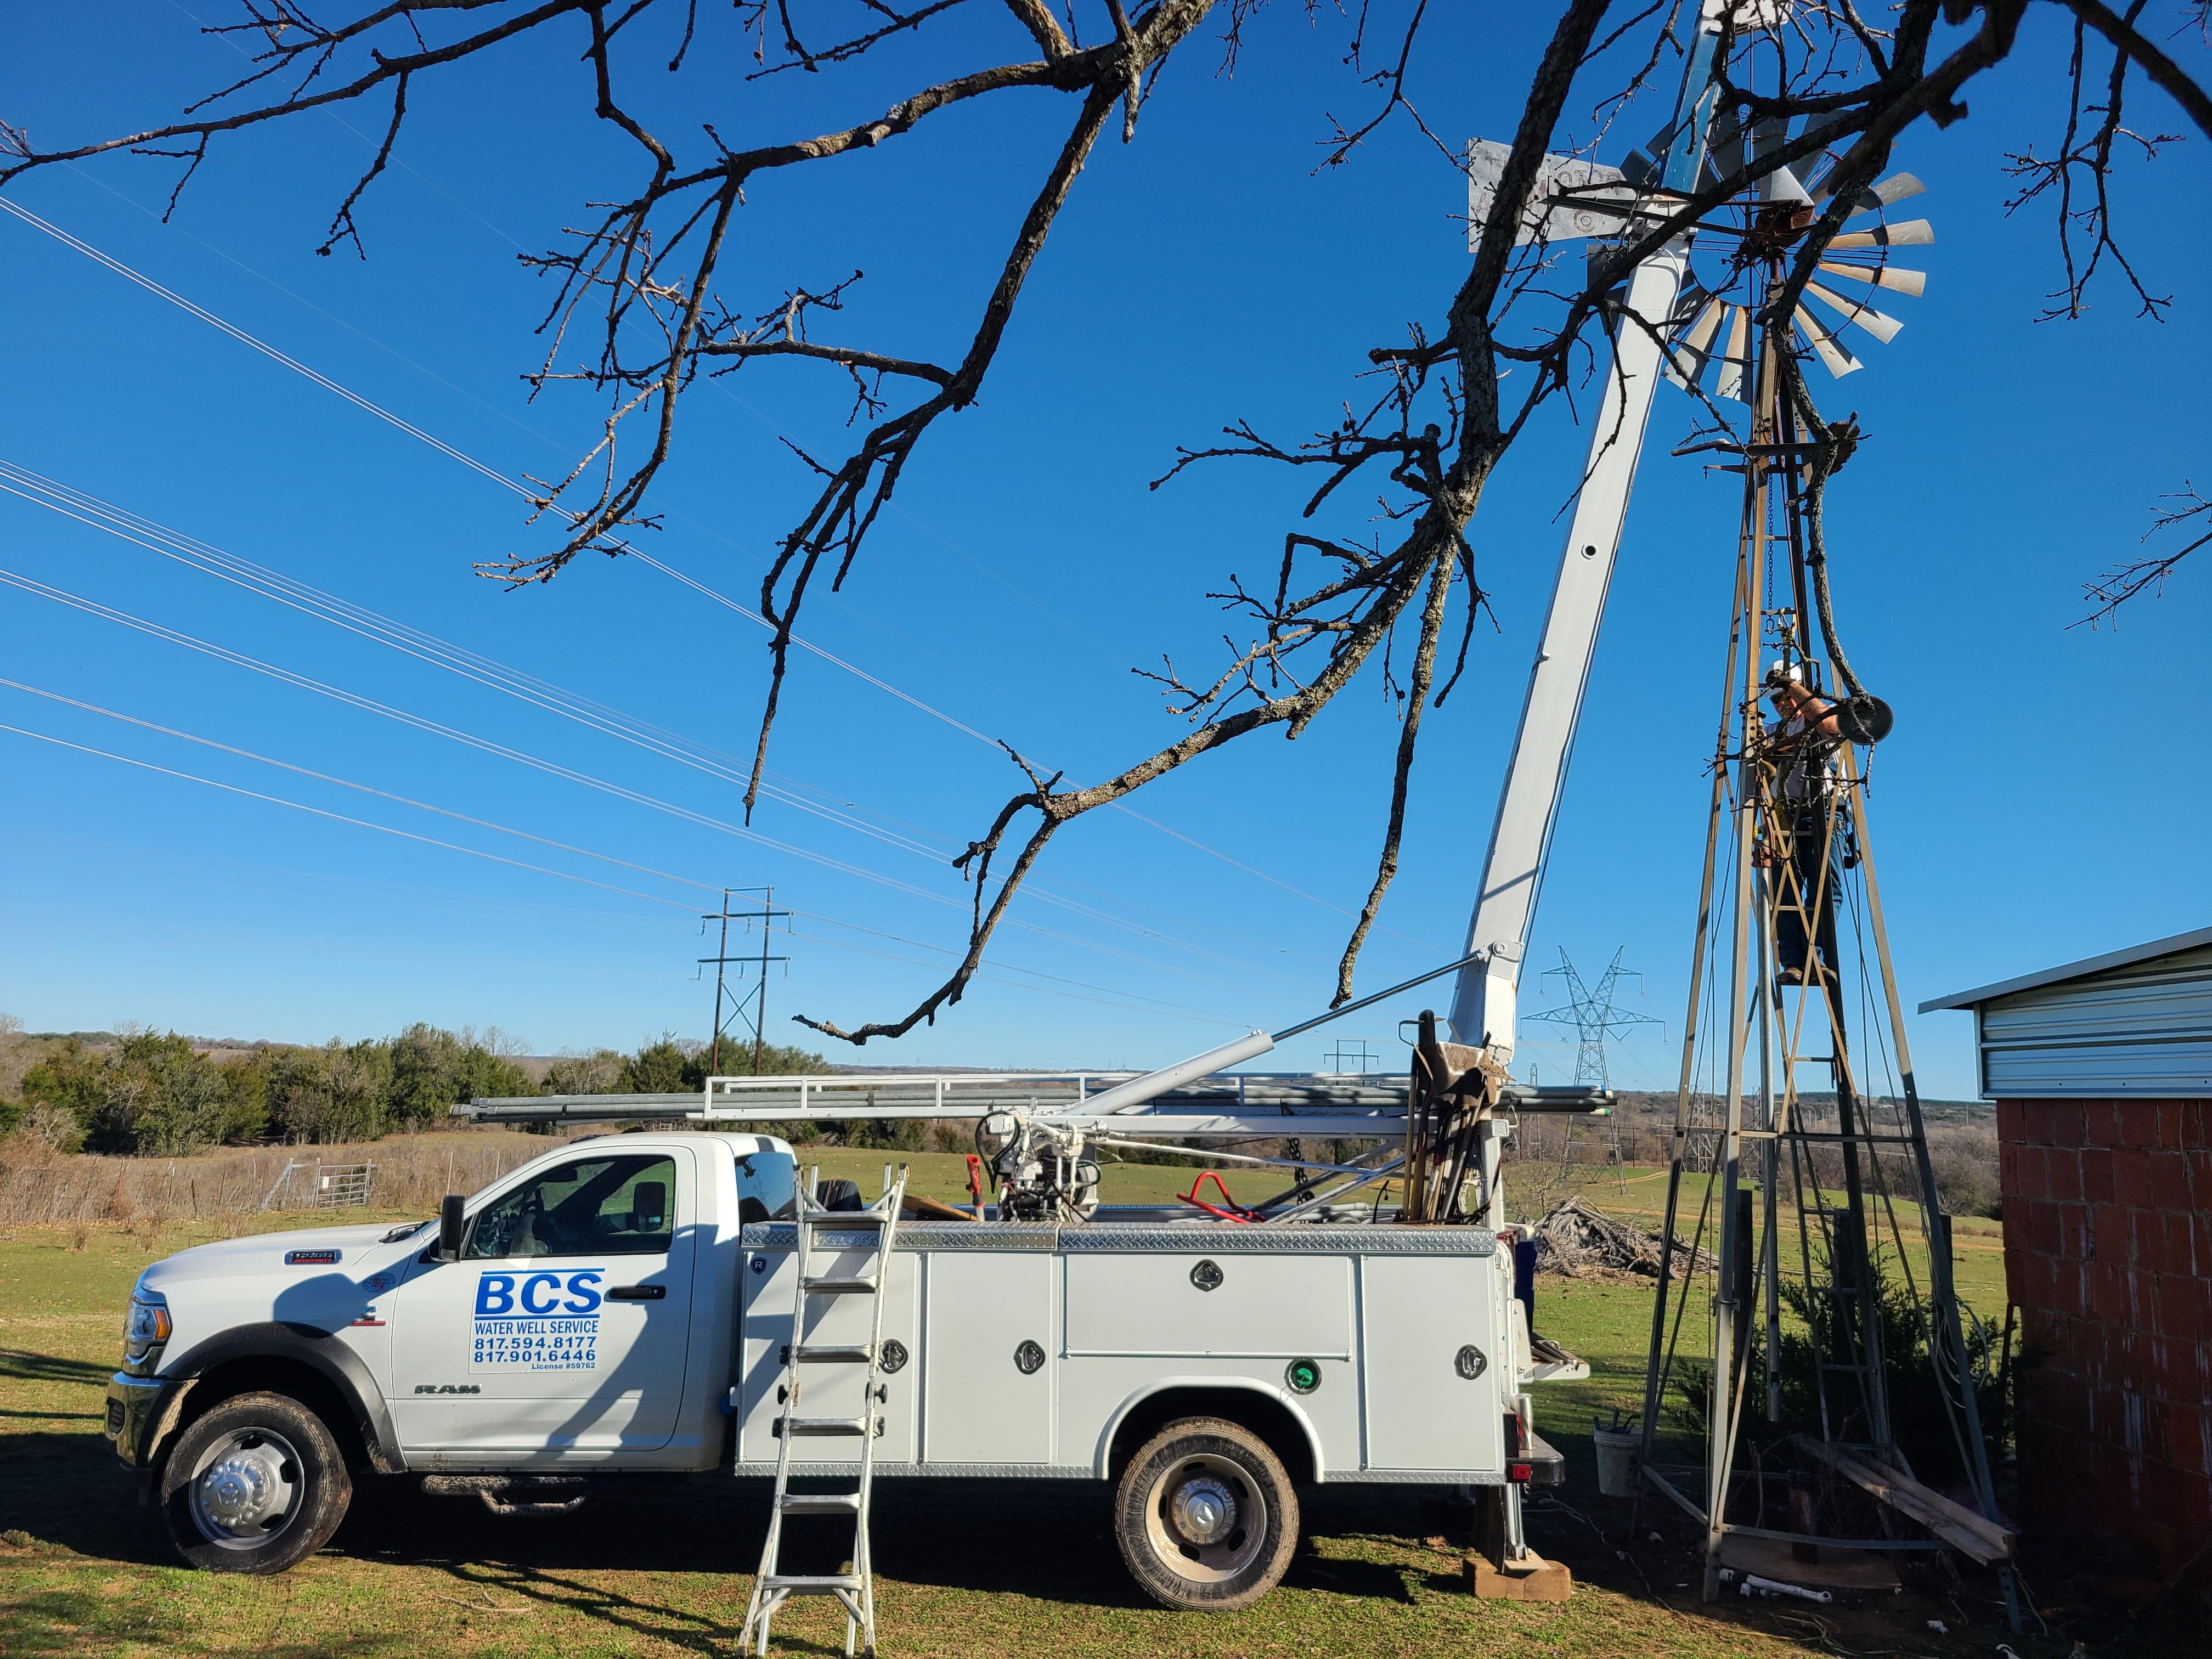
[[2000, 1099], [1997, 1141], [2022, 1522], [2172, 1573], [2212, 1537], [2212, 1102]]

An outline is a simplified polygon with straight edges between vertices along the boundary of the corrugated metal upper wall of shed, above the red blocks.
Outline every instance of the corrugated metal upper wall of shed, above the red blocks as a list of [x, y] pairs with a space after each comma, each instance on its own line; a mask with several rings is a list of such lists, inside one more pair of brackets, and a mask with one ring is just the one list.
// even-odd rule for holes
[[1997, 1099], [2212, 1095], [2212, 947], [1991, 998], [1975, 1029]]

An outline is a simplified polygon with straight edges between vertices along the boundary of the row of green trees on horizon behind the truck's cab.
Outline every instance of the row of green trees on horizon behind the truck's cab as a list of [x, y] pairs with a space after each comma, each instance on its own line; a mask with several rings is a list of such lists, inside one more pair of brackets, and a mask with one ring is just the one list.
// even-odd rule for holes
[[[533, 1075], [495, 1029], [416, 1022], [396, 1037], [321, 1046], [254, 1044], [210, 1053], [188, 1037], [124, 1031], [113, 1042], [0, 1033], [18, 1055], [0, 1093], [0, 1135], [29, 1133], [66, 1152], [177, 1157], [208, 1146], [372, 1141], [451, 1126], [476, 1095], [677, 1093], [703, 1088], [708, 1051], [664, 1033], [633, 1053], [562, 1055]], [[750, 1048], [723, 1055], [750, 1071]], [[29, 1062], [29, 1064], [22, 1064]], [[821, 1055], [765, 1046], [761, 1071], [827, 1071]]]

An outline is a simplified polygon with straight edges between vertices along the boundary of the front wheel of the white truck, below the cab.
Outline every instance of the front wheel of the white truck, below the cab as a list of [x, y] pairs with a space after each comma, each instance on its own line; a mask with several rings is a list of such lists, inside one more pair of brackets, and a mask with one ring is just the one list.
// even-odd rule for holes
[[354, 1480], [323, 1418], [283, 1394], [239, 1394], [177, 1436], [159, 1493], [168, 1542], [192, 1566], [283, 1573], [338, 1531]]

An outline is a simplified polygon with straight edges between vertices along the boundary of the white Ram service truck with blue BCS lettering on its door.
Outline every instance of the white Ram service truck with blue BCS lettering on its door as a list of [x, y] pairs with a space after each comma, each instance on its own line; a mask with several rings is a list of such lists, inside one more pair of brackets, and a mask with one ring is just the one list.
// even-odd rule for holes
[[[796, 1194], [781, 1139], [628, 1133], [564, 1144], [440, 1221], [184, 1250], [133, 1290], [106, 1433], [184, 1557], [234, 1573], [319, 1551], [363, 1478], [531, 1511], [770, 1475]], [[1124, 1559], [1183, 1608], [1265, 1595], [1310, 1482], [1517, 1509], [1562, 1469], [1524, 1387], [1579, 1363], [1531, 1356], [1495, 1232], [1363, 1214], [905, 1219], [878, 1365], [818, 1367], [807, 1409], [865, 1416], [874, 1391], [885, 1478], [1113, 1482]], [[816, 1232], [816, 1252], [845, 1248], [874, 1237]], [[805, 1340], [865, 1343], [865, 1301], [827, 1298]], [[794, 1440], [792, 1458], [827, 1475], [854, 1451]]]

